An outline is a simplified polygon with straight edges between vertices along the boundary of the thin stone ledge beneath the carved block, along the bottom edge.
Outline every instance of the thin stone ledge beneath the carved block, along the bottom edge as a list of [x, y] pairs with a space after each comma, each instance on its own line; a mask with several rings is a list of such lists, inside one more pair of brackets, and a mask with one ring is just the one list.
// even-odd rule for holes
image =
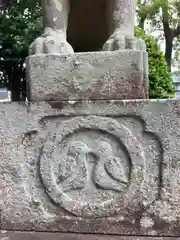
[[[171, 237], [122, 237], [110, 235], [37, 233], [37, 232], [6, 232], [0, 233], [1, 240], [174, 240]], [[179, 240], [180, 238], [176, 238]]]

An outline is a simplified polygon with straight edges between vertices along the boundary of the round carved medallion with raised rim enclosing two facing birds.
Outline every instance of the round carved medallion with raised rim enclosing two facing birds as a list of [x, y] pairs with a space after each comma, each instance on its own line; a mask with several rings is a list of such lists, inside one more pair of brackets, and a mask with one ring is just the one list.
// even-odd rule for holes
[[65, 210], [105, 217], [125, 202], [136, 162], [144, 162], [143, 150], [123, 124], [106, 117], [76, 117], [46, 139], [40, 174], [49, 197]]

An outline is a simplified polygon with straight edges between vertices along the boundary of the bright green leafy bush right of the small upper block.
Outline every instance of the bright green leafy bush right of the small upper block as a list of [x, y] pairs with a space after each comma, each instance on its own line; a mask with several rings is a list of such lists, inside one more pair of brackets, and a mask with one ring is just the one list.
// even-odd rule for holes
[[136, 28], [136, 36], [146, 42], [149, 56], [149, 96], [150, 98], [172, 98], [175, 95], [175, 87], [171, 73], [165, 60], [164, 53], [152, 36], [147, 36], [140, 28]]

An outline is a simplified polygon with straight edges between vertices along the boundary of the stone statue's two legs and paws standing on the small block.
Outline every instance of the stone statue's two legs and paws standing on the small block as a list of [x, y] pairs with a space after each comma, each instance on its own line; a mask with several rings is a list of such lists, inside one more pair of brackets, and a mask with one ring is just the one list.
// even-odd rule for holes
[[[67, 42], [68, 16], [71, 16], [71, 12], [74, 14], [71, 22], [75, 22], [72, 28], [77, 28], [76, 35], [83, 35], [80, 28], [85, 25], [84, 35], [88, 34], [88, 38], [95, 35], [96, 38], [92, 41], [89, 40], [90, 43], [97, 42], [98, 39], [102, 38], [101, 42], [94, 45], [94, 48], [89, 47], [89, 49], [83, 49], [83, 51], [99, 50], [99, 48], [105, 51], [118, 49], [145, 50], [146, 48], [143, 40], [134, 37], [136, 0], [43, 0], [42, 6], [44, 33], [31, 44], [30, 55], [38, 53], [71, 54], [74, 52], [73, 46]], [[106, 16], [106, 19], [98, 18], [97, 22], [94, 23], [95, 15], [92, 14], [92, 11], [95, 11], [98, 16]], [[85, 12], [85, 14], [81, 15], [81, 12]], [[81, 16], [83, 19], [81, 19]], [[87, 17], [90, 19], [86, 20]], [[102, 24], [100, 25], [98, 21], [102, 21]], [[86, 22], [88, 24], [92, 22], [92, 24], [86, 26], [84, 24]], [[97, 31], [94, 26], [99, 26]], [[91, 28], [93, 32], [89, 34]], [[105, 30], [102, 31], [102, 29]], [[96, 32], [97, 34], [95, 34]], [[107, 34], [103, 34], [104, 32], [107, 32]], [[82, 40], [79, 45], [88, 42], [88, 38], [83, 39], [84, 41]], [[77, 39], [79, 39], [79, 36]]]

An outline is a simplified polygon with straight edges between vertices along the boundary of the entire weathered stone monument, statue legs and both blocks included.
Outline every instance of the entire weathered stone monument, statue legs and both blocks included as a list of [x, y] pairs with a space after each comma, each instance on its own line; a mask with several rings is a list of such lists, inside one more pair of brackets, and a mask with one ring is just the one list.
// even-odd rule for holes
[[180, 102], [146, 99], [135, 6], [43, 0], [29, 101], [0, 105], [1, 239], [180, 236]]

